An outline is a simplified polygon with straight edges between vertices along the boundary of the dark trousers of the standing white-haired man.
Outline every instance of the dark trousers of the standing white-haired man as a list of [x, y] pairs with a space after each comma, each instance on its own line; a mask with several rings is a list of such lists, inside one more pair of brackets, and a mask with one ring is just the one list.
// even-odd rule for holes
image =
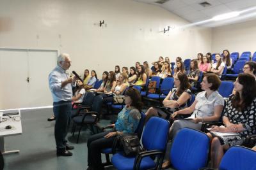
[[57, 152], [63, 152], [66, 149], [67, 133], [70, 126], [71, 101], [60, 101], [53, 103], [53, 113], [56, 117], [54, 136]]

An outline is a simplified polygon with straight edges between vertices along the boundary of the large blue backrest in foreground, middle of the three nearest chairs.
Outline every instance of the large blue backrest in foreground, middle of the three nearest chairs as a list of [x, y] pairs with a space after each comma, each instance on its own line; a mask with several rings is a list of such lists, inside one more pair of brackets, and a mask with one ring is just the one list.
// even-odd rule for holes
[[174, 169], [200, 169], [207, 164], [210, 139], [204, 132], [181, 129], [174, 138], [170, 161]]

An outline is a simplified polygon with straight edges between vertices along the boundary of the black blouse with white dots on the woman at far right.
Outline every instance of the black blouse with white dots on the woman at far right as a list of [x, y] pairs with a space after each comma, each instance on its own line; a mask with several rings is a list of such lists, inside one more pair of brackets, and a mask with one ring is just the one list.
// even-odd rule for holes
[[225, 107], [224, 116], [228, 118], [232, 124], [243, 124], [246, 131], [239, 132], [241, 137], [246, 137], [250, 134], [256, 133], [256, 98], [252, 101], [251, 106], [246, 108], [246, 110], [238, 111], [233, 108], [231, 104], [231, 99], [234, 96], [230, 96], [227, 99], [227, 104]]

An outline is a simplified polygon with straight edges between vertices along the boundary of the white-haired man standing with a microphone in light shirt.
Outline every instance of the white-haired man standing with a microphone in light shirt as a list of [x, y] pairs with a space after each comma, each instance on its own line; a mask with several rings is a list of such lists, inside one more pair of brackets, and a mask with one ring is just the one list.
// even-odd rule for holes
[[76, 85], [76, 76], [68, 77], [66, 71], [71, 66], [67, 53], [58, 56], [58, 64], [49, 74], [49, 87], [53, 98], [53, 113], [56, 118], [54, 136], [58, 156], [72, 156], [68, 150], [74, 146], [67, 145], [67, 132], [70, 125], [72, 108], [72, 87]]

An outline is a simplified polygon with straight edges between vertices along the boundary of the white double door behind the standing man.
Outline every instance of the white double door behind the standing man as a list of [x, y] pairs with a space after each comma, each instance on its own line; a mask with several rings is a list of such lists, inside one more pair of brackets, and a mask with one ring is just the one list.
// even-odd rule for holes
[[52, 105], [48, 75], [57, 50], [0, 49], [0, 110]]

